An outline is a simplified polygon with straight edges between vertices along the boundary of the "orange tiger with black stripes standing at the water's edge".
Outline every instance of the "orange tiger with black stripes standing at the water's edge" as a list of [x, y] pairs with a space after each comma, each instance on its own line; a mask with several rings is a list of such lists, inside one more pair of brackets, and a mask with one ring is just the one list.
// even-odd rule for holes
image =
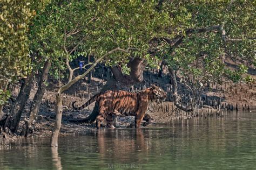
[[96, 101], [99, 107], [98, 115], [91, 114], [83, 122], [94, 122], [96, 119], [97, 129], [100, 128], [100, 122], [104, 121], [104, 119], [106, 119], [109, 128], [114, 128], [112, 125], [112, 115], [122, 117], [135, 116], [135, 128], [140, 128], [143, 119], [147, 121], [146, 125], [150, 123], [151, 117], [149, 114], [146, 114], [150, 102], [157, 100], [165, 101], [166, 96], [163, 89], [156, 86], [156, 84], [152, 84], [151, 87], [138, 93], [123, 90], [100, 92], [80, 107], [75, 106], [76, 101], [73, 102], [72, 107], [75, 110], [82, 110]]

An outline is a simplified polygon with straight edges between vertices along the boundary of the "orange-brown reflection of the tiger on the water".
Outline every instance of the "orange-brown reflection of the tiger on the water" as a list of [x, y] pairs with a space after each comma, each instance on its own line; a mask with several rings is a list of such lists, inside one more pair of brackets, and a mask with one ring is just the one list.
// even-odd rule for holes
[[97, 132], [100, 158], [118, 159], [126, 163], [127, 159], [140, 161], [140, 153], [148, 154], [149, 143], [140, 129], [130, 130], [99, 130]]

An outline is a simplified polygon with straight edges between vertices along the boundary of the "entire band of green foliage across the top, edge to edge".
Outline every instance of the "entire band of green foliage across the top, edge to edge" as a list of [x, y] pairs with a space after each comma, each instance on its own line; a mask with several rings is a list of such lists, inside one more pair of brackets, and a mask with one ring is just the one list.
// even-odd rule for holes
[[[245, 67], [231, 70], [223, 60], [225, 56], [255, 63], [254, 6], [250, 1], [4, 1], [1, 89], [25, 77], [32, 67], [42, 67], [42, 60], [50, 60], [51, 74], [63, 79], [66, 61], [78, 56], [97, 59], [117, 47], [137, 49], [104, 59], [126, 74], [130, 56], [144, 58], [153, 67], [164, 57], [191, 87], [201, 88], [201, 83], [220, 82], [223, 77], [237, 82]], [[225, 35], [220, 28], [191, 31], [221, 24]], [[161, 37], [183, 42], [178, 47], [160, 44], [156, 57], [150, 53], [150, 42]]]

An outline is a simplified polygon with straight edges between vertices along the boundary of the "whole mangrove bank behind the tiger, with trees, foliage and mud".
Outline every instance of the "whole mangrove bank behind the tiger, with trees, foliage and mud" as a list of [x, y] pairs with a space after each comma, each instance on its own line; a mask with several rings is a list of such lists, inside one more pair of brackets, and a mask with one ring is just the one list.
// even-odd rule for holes
[[1, 6], [3, 134], [30, 136], [46, 106], [55, 108], [51, 146], [58, 146], [63, 112], [73, 114], [74, 97], [89, 100], [99, 91], [136, 91], [152, 83], [168, 98], [151, 112], [169, 118], [180, 112], [195, 117], [206, 106], [202, 112], [217, 109], [220, 115], [221, 108], [255, 104], [253, 1], [44, 0]]

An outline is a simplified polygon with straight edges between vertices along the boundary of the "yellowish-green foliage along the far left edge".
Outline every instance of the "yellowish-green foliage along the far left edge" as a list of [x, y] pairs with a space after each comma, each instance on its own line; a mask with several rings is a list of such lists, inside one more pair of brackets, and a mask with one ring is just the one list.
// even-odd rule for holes
[[25, 77], [31, 70], [26, 34], [33, 11], [30, 9], [29, 2], [3, 1], [1, 3], [0, 100], [2, 103], [8, 98], [6, 96], [9, 96], [4, 94], [8, 84]]

